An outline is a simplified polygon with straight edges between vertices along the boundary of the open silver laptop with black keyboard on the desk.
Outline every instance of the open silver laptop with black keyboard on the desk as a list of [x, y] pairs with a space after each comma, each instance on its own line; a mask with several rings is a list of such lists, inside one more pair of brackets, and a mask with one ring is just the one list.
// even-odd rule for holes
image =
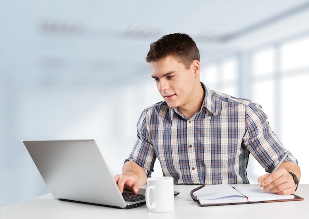
[[95, 140], [23, 143], [56, 199], [124, 209], [145, 204], [145, 189], [138, 194], [128, 190], [120, 193]]

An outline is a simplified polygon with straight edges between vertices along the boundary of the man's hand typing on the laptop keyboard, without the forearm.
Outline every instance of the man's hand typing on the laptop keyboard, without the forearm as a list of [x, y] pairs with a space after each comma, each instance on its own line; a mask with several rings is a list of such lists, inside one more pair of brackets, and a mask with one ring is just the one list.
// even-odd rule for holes
[[140, 188], [140, 183], [134, 175], [119, 174], [115, 175], [114, 179], [118, 185], [121, 194], [123, 192], [123, 189], [129, 189], [132, 190], [134, 193], [137, 193]]

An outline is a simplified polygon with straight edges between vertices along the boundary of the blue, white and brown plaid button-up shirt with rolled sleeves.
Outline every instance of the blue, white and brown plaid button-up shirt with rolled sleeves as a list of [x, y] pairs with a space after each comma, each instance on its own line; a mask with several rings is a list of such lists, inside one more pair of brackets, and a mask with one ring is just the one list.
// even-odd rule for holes
[[[146, 108], [126, 161], [137, 163], [150, 177], [158, 158], [163, 175], [172, 176], [176, 184], [249, 183], [250, 153], [271, 172], [285, 148], [271, 131], [262, 107], [202, 86], [204, 101], [190, 119], [165, 101]], [[297, 163], [291, 154], [287, 160]]]

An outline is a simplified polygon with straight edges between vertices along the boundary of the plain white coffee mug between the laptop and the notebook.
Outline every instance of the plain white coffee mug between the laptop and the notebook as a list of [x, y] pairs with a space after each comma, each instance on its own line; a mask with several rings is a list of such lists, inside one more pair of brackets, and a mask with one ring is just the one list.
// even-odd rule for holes
[[151, 212], [168, 212], [175, 209], [174, 179], [169, 176], [147, 179], [146, 205]]

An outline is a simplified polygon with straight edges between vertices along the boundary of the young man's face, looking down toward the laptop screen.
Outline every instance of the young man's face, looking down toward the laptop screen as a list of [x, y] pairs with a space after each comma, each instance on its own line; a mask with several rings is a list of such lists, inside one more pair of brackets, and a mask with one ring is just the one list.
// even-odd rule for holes
[[181, 110], [188, 108], [188, 105], [194, 101], [196, 76], [199, 76], [199, 71], [196, 75], [194, 63], [193, 61], [187, 69], [173, 56], [151, 62], [152, 78], [168, 106], [178, 107]]

